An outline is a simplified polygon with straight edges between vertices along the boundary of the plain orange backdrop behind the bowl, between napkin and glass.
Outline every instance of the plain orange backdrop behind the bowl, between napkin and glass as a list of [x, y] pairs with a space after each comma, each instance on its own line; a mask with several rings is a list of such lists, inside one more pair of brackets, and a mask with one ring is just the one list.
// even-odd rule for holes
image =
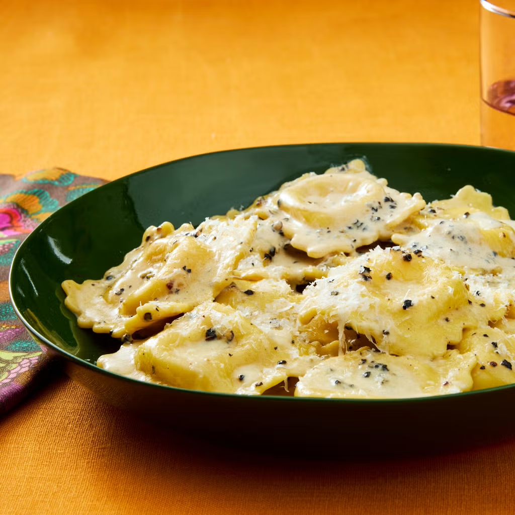
[[479, 143], [476, 0], [2, 0], [3, 173]]

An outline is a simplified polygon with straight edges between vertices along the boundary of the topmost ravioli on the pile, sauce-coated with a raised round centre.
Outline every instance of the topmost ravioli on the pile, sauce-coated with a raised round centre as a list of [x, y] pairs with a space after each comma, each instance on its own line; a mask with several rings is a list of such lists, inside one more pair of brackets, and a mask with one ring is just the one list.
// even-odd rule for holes
[[343, 167], [288, 182], [250, 212], [281, 224], [291, 246], [322, 258], [388, 240], [394, 227], [424, 205], [418, 193], [400, 193], [385, 179]]

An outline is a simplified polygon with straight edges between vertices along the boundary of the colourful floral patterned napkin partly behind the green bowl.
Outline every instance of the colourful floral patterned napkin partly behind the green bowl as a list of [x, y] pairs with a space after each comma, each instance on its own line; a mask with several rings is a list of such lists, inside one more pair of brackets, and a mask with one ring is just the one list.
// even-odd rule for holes
[[0, 415], [38, 384], [50, 362], [16, 317], [9, 299], [14, 252], [39, 222], [104, 182], [62, 168], [35, 171], [20, 180], [0, 175]]

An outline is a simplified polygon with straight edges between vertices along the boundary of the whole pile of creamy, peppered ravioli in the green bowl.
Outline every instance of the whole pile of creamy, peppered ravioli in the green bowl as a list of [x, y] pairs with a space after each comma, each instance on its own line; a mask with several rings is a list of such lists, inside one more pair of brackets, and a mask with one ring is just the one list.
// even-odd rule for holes
[[[97, 365], [178, 388], [409, 398], [515, 383], [515, 222], [467, 185], [427, 203], [361, 160], [198, 227], [150, 227], [66, 280]], [[283, 385], [283, 386], [282, 386]]]

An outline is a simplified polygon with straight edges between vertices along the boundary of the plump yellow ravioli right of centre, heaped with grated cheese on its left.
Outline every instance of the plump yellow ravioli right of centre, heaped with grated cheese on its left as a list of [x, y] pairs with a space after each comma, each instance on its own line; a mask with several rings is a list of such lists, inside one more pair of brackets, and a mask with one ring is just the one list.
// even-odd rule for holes
[[477, 325], [472, 303], [457, 270], [421, 252], [376, 247], [307, 287], [299, 322], [340, 335], [351, 328], [390, 354], [437, 357]]

